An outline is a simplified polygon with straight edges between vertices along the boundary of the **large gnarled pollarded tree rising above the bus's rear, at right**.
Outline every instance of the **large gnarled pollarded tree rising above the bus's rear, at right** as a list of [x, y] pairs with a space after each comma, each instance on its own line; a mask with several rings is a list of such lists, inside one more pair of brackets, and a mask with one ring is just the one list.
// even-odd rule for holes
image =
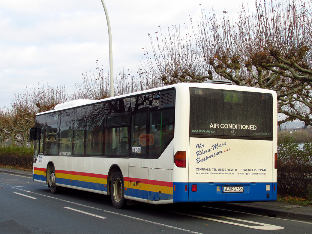
[[[181, 37], [178, 27], [152, 41], [153, 56], [144, 64], [165, 84], [222, 78], [236, 85], [272, 89], [279, 124], [295, 119], [312, 125], [311, 5], [279, 1], [242, 7], [238, 19], [216, 12], [202, 17], [192, 33]], [[191, 20], [192, 21], [192, 20]]]

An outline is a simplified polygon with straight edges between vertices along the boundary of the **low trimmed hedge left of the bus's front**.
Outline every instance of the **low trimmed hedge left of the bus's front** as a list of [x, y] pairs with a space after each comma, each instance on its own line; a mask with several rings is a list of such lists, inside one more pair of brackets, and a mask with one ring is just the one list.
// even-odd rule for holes
[[31, 168], [33, 162], [33, 148], [18, 146], [0, 147], [0, 164]]

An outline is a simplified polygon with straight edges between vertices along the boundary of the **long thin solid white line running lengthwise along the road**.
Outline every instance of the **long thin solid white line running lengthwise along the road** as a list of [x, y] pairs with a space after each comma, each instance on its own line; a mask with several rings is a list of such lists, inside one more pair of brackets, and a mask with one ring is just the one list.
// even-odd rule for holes
[[[15, 188], [15, 187], [12, 187], [12, 188]], [[27, 190], [23, 190], [21, 188], [16, 188], [16, 189], [19, 189], [19, 190], [22, 190], [22, 191], [27, 191]], [[155, 225], [159, 225], [159, 226], [163, 226], [163, 227], [172, 228], [172, 229], [179, 230], [179, 231], [189, 232], [189, 233], [193, 233], [193, 234], [203, 234], [203, 233], [200, 233], [200, 232], [193, 232], [193, 231], [190, 231], [190, 230], [187, 230], [187, 229], [173, 227], [173, 226], [169, 226], [169, 225], [162, 224], [162, 223], [157, 223], [157, 222], [153, 222], [153, 221], [149, 221], [149, 220], [145, 220], [145, 219], [132, 217], [132, 216], [129, 216], [129, 215], [119, 214], [119, 213], [112, 212], [112, 211], [107, 211], [107, 210], [102, 210], [102, 209], [99, 209], [99, 208], [96, 208], [96, 207], [86, 206], [86, 205], [79, 204], [79, 203], [76, 203], [76, 202], [66, 201], [66, 200], [63, 200], [63, 199], [60, 199], [60, 198], [51, 197], [51, 196], [43, 195], [43, 194], [40, 194], [40, 193], [34, 193], [34, 194], [38, 194], [38, 195], [43, 196], [43, 197], [53, 198], [53, 199], [56, 199], [56, 200], [59, 200], [59, 201], [62, 201], [62, 202], [68, 202], [68, 203], [75, 204], [75, 205], [82, 206], [82, 207], [92, 208], [92, 209], [99, 210], [99, 211], [102, 211], [102, 212], [107, 212], [107, 213], [110, 213], [110, 214], [115, 214], [115, 215], [131, 218], [131, 219], [135, 219], [135, 220], [139, 220], [139, 221], [143, 221], [143, 222], [147, 222], [147, 223], [151, 223], [151, 224], [155, 224]]]

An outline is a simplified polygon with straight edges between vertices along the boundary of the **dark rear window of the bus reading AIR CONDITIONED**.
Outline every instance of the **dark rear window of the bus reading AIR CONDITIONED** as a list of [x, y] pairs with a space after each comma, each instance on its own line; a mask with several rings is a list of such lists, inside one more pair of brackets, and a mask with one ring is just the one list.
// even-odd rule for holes
[[272, 94], [190, 87], [190, 134], [270, 140]]

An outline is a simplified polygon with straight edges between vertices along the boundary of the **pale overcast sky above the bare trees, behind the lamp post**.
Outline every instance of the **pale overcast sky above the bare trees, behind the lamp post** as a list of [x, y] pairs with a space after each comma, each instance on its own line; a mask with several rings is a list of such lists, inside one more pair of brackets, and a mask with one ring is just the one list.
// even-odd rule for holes
[[[253, 0], [242, 2], [254, 6]], [[106, 0], [105, 4], [114, 73], [119, 68], [136, 73], [142, 48], [150, 48], [148, 34], [154, 36], [158, 26], [166, 31], [172, 25], [189, 25], [190, 16], [199, 19], [201, 8], [237, 17], [241, 7], [233, 0]], [[82, 83], [82, 73], [96, 70], [96, 60], [108, 71], [108, 30], [100, 0], [1, 0], [0, 32], [1, 108], [10, 107], [14, 93], [23, 93], [38, 80], [65, 85], [72, 92], [76, 83]]]

